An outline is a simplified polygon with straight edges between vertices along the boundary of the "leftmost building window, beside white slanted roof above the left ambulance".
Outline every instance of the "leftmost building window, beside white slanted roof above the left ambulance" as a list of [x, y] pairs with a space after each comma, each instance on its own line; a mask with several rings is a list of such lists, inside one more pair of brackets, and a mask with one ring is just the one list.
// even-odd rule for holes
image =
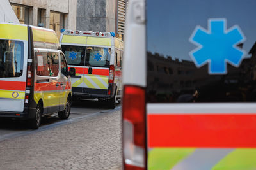
[[17, 4], [11, 4], [11, 6], [20, 24], [29, 24], [29, 7]]

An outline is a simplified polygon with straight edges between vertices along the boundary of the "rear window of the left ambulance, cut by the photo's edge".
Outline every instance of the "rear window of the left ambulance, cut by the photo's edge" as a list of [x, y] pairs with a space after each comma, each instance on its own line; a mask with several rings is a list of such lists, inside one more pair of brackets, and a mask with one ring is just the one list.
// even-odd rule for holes
[[0, 78], [22, 76], [23, 60], [22, 41], [0, 40]]

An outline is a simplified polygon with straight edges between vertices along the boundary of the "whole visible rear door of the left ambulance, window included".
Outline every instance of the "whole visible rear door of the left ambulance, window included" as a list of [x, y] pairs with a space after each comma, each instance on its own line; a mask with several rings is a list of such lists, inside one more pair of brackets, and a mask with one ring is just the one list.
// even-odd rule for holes
[[23, 25], [0, 25], [0, 111], [24, 111], [27, 30]]

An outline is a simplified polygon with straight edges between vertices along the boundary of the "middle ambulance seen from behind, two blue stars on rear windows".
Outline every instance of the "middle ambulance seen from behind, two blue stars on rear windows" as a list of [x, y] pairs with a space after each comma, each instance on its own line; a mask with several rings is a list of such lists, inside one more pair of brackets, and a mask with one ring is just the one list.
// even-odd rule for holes
[[115, 108], [122, 94], [123, 41], [114, 32], [65, 30], [60, 37], [72, 76], [72, 96], [105, 101]]

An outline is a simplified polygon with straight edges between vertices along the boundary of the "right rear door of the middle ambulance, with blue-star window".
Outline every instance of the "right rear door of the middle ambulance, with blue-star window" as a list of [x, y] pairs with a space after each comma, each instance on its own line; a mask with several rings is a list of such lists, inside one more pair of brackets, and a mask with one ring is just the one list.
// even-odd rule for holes
[[108, 94], [111, 50], [111, 38], [87, 37], [83, 93]]

